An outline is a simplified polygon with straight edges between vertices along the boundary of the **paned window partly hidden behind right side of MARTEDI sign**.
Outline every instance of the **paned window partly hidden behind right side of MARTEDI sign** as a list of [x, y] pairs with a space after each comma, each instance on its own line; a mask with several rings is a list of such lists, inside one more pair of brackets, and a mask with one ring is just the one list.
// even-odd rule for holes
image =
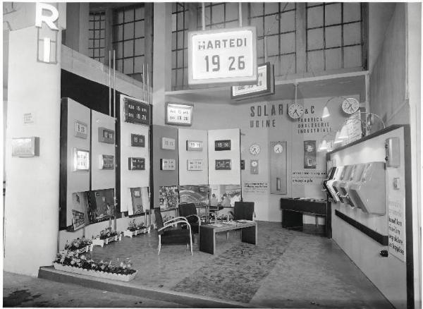
[[[275, 75], [296, 73], [297, 4], [255, 2], [249, 7], [248, 20], [257, 28], [257, 63], [274, 64]], [[266, 42], [264, 40], [266, 37]]]

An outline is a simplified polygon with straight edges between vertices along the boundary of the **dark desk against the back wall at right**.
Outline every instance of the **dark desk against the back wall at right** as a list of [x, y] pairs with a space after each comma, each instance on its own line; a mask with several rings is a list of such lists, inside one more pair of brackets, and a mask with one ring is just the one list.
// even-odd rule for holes
[[324, 216], [325, 235], [332, 237], [331, 203], [326, 200], [281, 198], [282, 227], [302, 226], [302, 214]]

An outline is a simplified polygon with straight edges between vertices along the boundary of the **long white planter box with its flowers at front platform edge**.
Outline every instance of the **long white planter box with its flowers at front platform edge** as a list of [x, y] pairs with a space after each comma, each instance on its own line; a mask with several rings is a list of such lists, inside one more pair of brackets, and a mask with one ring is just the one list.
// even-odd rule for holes
[[75, 251], [63, 250], [53, 261], [55, 269], [77, 274], [88, 274], [94, 277], [130, 281], [135, 278], [137, 270], [132, 268], [129, 258], [114, 263], [113, 261], [99, 262], [92, 260], [89, 253], [79, 255]]

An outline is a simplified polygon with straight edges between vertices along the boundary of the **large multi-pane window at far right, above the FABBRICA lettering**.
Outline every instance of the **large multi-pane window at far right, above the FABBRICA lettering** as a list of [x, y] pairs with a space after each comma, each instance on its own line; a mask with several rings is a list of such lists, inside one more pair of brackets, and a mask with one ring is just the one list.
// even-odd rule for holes
[[363, 67], [362, 4], [307, 3], [307, 71]]

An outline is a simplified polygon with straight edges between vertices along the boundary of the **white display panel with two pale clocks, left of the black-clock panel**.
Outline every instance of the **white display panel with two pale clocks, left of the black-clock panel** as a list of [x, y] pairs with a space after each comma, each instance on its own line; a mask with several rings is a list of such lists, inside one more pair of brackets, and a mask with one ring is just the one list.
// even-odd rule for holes
[[180, 186], [208, 183], [207, 131], [180, 128], [178, 143]]

